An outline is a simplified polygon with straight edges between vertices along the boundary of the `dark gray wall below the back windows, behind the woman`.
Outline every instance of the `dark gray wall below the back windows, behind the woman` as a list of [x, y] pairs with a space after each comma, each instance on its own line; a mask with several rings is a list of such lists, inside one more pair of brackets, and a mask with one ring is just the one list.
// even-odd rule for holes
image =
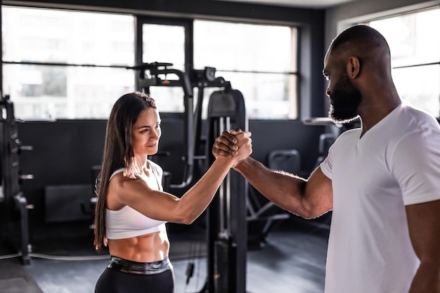
[[[56, 122], [26, 122], [19, 124], [18, 136], [23, 145], [34, 150], [20, 155], [22, 174], [33, 174], [33, 180], [22, 181], [27, 202], [34, 205], [29, 211], [31, 237], [56, 233], [72, 233], [60, 229], [66, 223], [46, 223], [44, 188], [47, 185], [87, 185], [92, 188], [91, 167], [101, 164], [105, 137], [105, 120], [59, 120]], [[162, 119], [160, 164], [172, 173], [173, 183], [181, 183], [183, 163], [183, 121]], [[268, 152], [274, 149], [296, 148], [302, 154], [303, 168], [311, 171], [318, 156], [318, 136], [322, 126], [305, 126], [297, 121], [250, 121], [254, 152], [252, 157], [266, 164]], [[194, 178], [194, 181], [198, 177]], [[194, 182], [193, 182], [194, 183]], [[185, 190], [172, 190], [176, 195]], [[92, 195], [92, 193], [91, 193]], [[63, 207], [59, 207], [60, 209]], [[70, 207], [79, 209], [79, 205]], [[68, 224], [68, 223], [67, 223]], [[89, 223], [84, 223], [84, 232]]]

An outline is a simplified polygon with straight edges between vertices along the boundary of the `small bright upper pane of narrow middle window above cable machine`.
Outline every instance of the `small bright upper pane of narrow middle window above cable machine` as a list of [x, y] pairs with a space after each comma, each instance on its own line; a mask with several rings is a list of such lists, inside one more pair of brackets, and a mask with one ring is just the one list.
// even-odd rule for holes
[[142, 62], [172, 63], [185, 67], [185, 27], [180, 25], [142, 25]]

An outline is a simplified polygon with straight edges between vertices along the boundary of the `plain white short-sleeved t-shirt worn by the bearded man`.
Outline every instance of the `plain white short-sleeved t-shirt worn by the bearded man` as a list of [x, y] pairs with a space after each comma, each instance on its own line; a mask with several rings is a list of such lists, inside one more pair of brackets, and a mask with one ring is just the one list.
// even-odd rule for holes
[[403, 104], [361, 131], [345, 131], [321, 164], [333, 188], [325, 292], [408, 293], [420, 261], [405, 205], [440, 199], [440, 127]]

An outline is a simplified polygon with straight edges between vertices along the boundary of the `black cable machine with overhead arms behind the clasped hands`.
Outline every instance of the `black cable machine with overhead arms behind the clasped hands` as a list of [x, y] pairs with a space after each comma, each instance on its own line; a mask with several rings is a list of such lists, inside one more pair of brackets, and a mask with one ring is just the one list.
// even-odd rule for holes
[[[150, 93], [150, 86], [181, 86], [185, 105], [184, 135], [186, 164], [182, 182], [170, 185], [184, 188], [193, 180], [194, 162], [199, 160], [204, 169], [212, 164], [210, 146], [223, 130], [247, 130], [245, 102], [238, 90], [223, 77], [215, 77], [215, 68], [180, 70], [169, 68], [171, 63], [145, 63], [131, 69], [138, 70], [138, 89]], [[174, 74], [178, 79], [167, 79]], [[202, 138], [202, 104], [204, 89], [224, 88], [209, 98], [207, 136]], [[198, 103], [194, 108], [193, 89], [198, 88]], [[204, 148], [202, 147], [204, 145]], [[247, 181], [230, 171], [221, 184], [218, 195], [207, 209], [207, 282], [203, 293], [245, 293], [247, 251]]]

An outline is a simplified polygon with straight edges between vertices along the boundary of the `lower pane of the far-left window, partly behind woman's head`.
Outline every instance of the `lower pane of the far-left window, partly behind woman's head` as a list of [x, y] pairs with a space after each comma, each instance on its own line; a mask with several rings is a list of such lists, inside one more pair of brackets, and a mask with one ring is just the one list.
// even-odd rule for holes
[[134, 91], [134, 72], [110, 67], [4, 65], [4, 91], [20, 119], [108, 119]]

